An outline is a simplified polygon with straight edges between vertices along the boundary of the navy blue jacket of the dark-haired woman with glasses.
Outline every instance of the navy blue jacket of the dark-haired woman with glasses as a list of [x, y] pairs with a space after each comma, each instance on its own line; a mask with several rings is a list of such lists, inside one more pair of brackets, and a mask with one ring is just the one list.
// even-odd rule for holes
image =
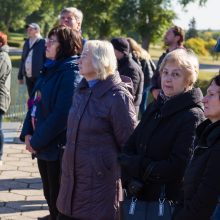
[[57, 160], [59, 146], [66, 142], [69, 108], [74, 90], [81, 81], [77, 61], [78, 57], [74, 56], [45, 67], [35, 85], [32, 98], [37, 91], [41, 96], [36, 104], [36, 127], [33, 131], [30, 109], [20, 138], [24, 141], [25, 135], [32, 135], [30, 143], [39, 159]]

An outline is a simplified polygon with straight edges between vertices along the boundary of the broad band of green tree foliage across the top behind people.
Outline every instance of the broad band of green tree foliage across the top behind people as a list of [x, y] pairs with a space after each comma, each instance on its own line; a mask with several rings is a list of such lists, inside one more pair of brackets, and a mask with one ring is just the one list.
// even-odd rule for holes
[[[183, 7], [206, 1], [177, 0]], [[18, 30], [26, 22], [37, 22], [45, 35], [57, 23], [60, 11], [74, 6], [84, 13], [83, 36], [131, 36], [147, 49], [172, 25], [176, 16], [172, 4], [171, 0], [0, 0], [0, 28]]]

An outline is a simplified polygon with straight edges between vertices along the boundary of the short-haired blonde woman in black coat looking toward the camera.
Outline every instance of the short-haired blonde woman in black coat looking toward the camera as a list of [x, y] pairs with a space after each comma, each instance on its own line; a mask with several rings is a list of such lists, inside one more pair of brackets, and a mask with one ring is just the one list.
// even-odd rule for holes
[[201, 90], [193, 88], [198, 76], [194, 54], [170, 52], [160, 74], [162, 91], [119, 156], [124, 187], [143, 201], [158, 201], [162, 189], [168, 200], [178, 199], [195, 128], [204, 118]]

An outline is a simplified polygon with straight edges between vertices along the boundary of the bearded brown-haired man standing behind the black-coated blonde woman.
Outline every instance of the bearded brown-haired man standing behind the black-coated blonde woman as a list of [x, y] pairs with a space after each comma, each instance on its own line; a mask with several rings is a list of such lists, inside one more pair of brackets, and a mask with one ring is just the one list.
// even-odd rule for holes
[[167, 47], [167, 50], [159, 57], [159, 60], [157, 62], [157, 68], [154, 72], [154, 75], [151, 79], [151, 88], [150, 91], [153, 95], [153, 97], [156, 99], [160, 90], [160, 64], [162, 63], [164, 57], [171, 51], [175, 49], [184, 49], [183, 47], [183, 41], [184, 41], [184, 31], [181, 27], [174, 26], [168, 29], [164, 36], [164, 44]]

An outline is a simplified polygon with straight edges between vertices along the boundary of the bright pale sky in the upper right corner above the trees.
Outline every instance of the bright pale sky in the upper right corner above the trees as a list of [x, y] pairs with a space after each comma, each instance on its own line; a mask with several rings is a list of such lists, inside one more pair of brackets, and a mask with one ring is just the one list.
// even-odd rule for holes
[[195, 17], [197, 29], [220, 30], [220, 0], [208, 0], [204, 7], [190, 3], [186, 7], [187, 11], [184, 11], [180, 6], [174, 6], [173, 9], [178, 16], [174, 24], [184, 29], [189, 28], [190, 20]]

